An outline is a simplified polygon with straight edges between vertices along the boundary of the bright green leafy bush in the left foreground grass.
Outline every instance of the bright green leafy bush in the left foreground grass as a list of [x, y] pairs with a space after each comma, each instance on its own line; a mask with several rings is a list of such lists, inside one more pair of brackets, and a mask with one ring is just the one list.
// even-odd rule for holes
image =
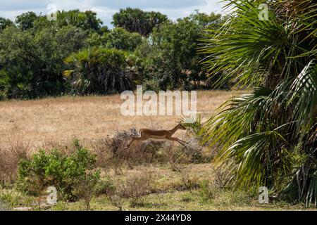
[[66, 155], [53, 149], [46, 153], [40, 150], [31, 160], [22, 160], [18, 167], [17, 188], [37, 194], [48, 186], [55, 186], [59, 195], [68, 201], [79, 198], [80, 184], [89, 174], [99, 179], [94, 172], [96, 156], [77, 145], [75, 153]]

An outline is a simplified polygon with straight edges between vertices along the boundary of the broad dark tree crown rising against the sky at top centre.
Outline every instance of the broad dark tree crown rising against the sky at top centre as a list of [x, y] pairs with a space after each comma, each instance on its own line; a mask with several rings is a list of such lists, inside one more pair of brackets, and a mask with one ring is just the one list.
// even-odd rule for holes
[[139, 8], [120, 9], [113, 15], [112, 24], [115, 27], [123, 27], [128, 32], [138, 32], [148, 36], [156, 25], [167, 20], [167, 16], [159, 12], [145, 12]]

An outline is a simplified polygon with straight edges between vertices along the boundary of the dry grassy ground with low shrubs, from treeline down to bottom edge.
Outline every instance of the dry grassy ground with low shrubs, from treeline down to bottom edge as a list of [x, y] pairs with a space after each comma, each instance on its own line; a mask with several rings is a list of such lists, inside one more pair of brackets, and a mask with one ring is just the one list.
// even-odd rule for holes
[[[201, 120], [241, 91], [198, 91]], [[171, 129], [177, 116], [125, 117], [119, 95], [3, 101], [0, 125], [0, 207], [5, 210], [313, 210], [304, 203], [226, 186], [217, 149], [188, 142], [132, 143], [138, 129]], [[131, 129], [129, 129], [131, 127]], [[57, 204], [49, 205], [49, 186]], [[270, 194], [270, 196], [273, 196]], [[1, 205], [1, 203], [4, 203]]]

